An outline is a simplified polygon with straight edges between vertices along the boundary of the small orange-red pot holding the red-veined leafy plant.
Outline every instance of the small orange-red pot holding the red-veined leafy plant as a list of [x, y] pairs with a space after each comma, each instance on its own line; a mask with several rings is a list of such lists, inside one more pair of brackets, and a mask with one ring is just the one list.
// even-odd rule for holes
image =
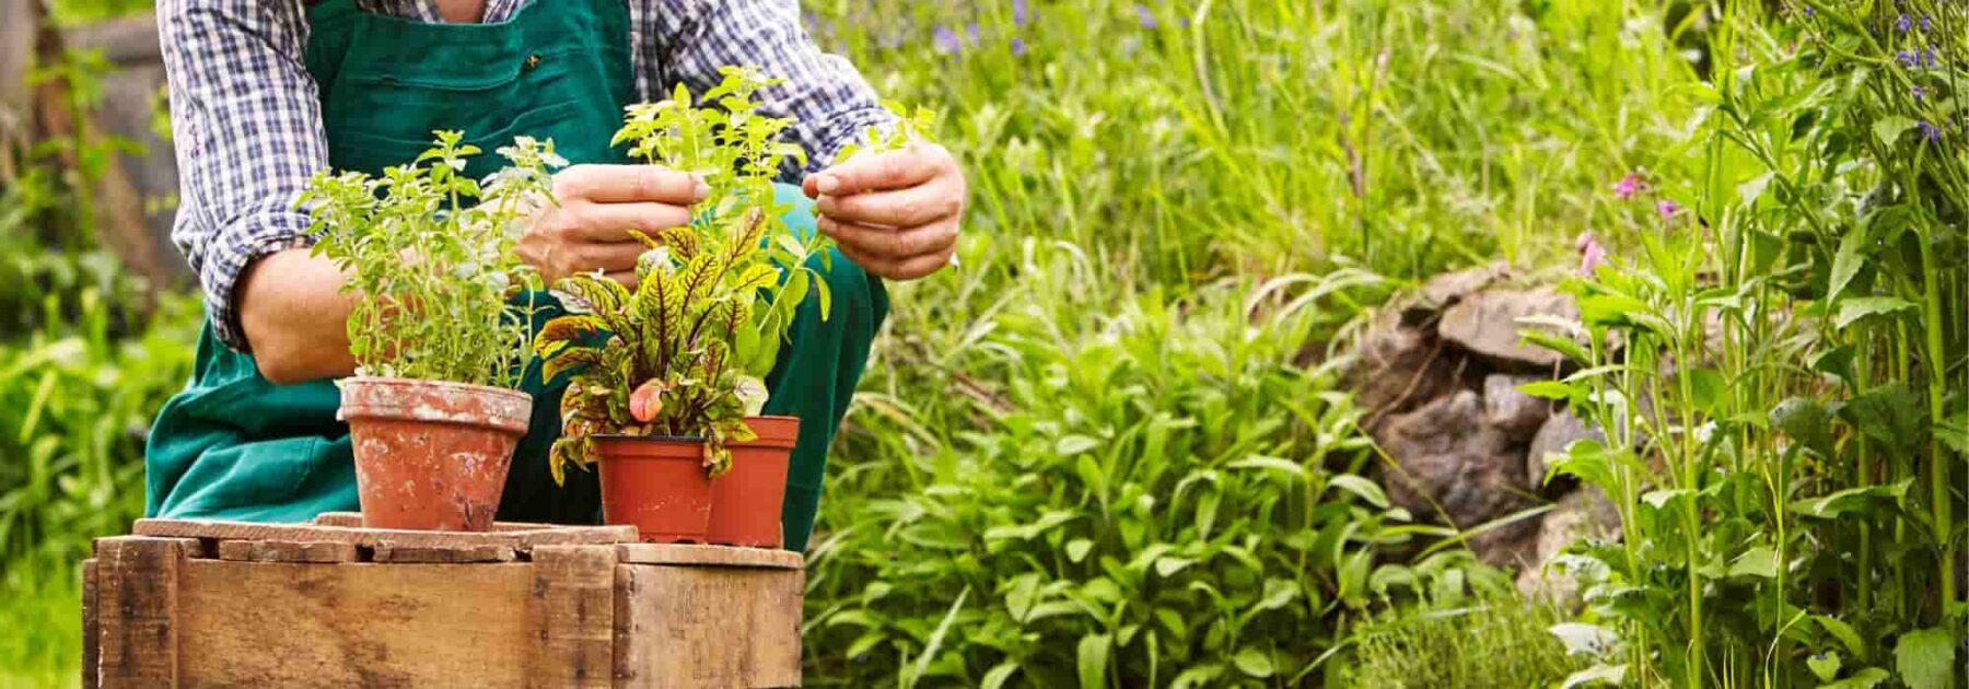
[[707, 543], [711, 474], [695, 437], [595, 435], [603, 522], [632, 524], [646, 543]]

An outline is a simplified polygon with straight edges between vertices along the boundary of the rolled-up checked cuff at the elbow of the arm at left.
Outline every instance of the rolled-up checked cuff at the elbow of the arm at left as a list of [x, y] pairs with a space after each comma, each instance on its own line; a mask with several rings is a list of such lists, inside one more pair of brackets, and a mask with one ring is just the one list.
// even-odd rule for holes
[[205, 266], [199, 272], [199, 285], [205, 287], [205, 313], [213, 321], [213, 331], [228, 348], [250, 354], [252, 343], [238, 313], [238, 282], [252, 262], [301, 246], [313, 246], [307, 234], [311, 224], [303, 213], [260, 213], [248, 215], [228, 224], [205, 248]]

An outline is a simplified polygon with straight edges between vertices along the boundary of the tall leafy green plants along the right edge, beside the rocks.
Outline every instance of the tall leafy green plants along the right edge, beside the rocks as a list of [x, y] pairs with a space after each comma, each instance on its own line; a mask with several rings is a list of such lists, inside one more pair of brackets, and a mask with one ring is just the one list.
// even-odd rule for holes
[[1607, 431], [1552, 463], [1622, 512], [1622, 545], [1567, 561], [1620, 632], [1597, 671], [1957, 687], [1969, 282], [1943, 256], [1969, 226], [1969, 16], [1811, 0], [1721, 20], [1697, 185], [1664, 189], [1687, 207], [1571, 283], [1587, 344], [1528, 333], [1581, 364], [1528, 390]]

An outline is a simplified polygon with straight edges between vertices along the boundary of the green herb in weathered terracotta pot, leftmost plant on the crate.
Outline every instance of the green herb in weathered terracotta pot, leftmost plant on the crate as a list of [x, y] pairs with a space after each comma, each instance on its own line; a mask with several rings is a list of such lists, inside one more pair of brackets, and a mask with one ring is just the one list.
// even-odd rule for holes
[[339, 415], [352, 435], [362, 522], [484, 532], [534, 407], [514, 390], [532, 354], [532, 313], [514, 313], [510, 299], [540, 283], [514, 260], [518, 220], [547, 197], [547, 169], [567, 161], [551, 142], [520, 138], [498, 150], [512, 165], [480, 185], [463, 175], [478, 148], [459, 132], [435, 136], [380, 177], [317, 173], [301, 203], [313, 252], [349, 276], [356, 297], [356, 374], [339, 382]]

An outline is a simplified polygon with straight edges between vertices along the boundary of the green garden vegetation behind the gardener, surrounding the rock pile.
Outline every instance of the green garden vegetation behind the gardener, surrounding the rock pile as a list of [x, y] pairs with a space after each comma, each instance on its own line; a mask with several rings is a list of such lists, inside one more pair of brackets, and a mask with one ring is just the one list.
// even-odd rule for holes
[[[975, 189], [833, 455], [809, 681], [1959, 685], [1961, 4], [805, 6]], [[0, 683], [73, 675], [197, 317], [124, 317], [67, 187], [0, 201], [67, 266], [8, 280]], [[1617, 431], [1561, 467], [1638, 537], [1581, 543], [1575, 614], [1386, 504], [1337, 372], [1406, 285], [1581, 250], [1622, 348], [1542, 392]]]

